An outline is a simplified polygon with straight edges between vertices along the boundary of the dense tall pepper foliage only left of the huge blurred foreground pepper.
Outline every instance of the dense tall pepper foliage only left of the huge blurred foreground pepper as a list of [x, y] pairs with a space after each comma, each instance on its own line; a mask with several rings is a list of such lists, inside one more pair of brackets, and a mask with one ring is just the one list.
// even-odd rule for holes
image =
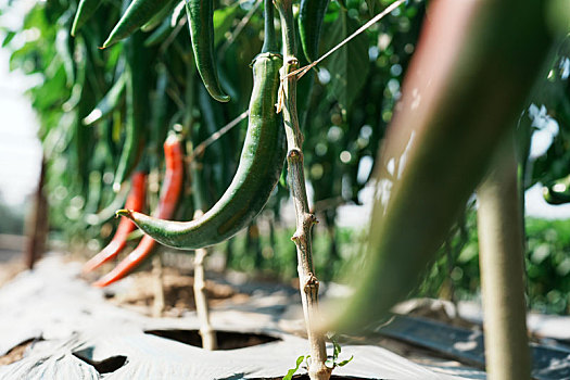
[[[324, 22], [320, 53], [388, 3], [331, 2]], [[190, 152], [246, 110], [252, 90], [249, 64], [263, 42], [263, 5], [258, 7], [257, 1], [215, 4], [217, 69], [223, 88], [231, 97], [229, 103], [220, 104], [207, 96], [200, 80], [187, 21], [178, 2], [168, 5], [164, 20], [154, 27], [138, 31], [143, 43], [136, 49], [141, 50], [144, 62], [130, 68], [126, 63], [136, 37], [100, 49], [126, 4], [116, 0], [103, 2], [75, 37], [71, 36], [78, 5], [75, 0], [37, 2], [22, 25], [3, 27], [3, 46], [12, 50], [11, 68], [41, 78], [28, 92], [40, 121], [39, 137], [49, 162], [51, 228], [69, 242], [90, 242], [93, 249], [112, 235], [115, 223], [109, 210], [121, 206], [121, 198], [125, 197], [114, 193], [111, 185], [127, 138], [128, 91], [122, 91], [112, 102], [103, 101], [102, 107], [105, 94], [127, 71], [147, 73], [143, 88], [150, 107], [144, 110], [149, 113], [141, 126], [145, 129], [142, 160], [154, 174], [149, 195], [152, 206], [156, 204], [164, 165], [160, 147], [167, 130], [178, 125]], [[11, 12], [13, 5], [9, 2], [4, 12]], [[257, 7], [244, 24], [244, 17]], [[331, 236], [337, 207], [359, 203], [358, 192], [369, 180], [370, 164], [400, 96], [400, 80], [414, 51], [422, 13], [419, 2], [396, 10], [319, 65], [318, 73], [312, 72], [300, 81], [299, 109], [308, 180], [315, 190], [313, 202]], [[301, 51], [297, 55], [304, 59]], [[84, 119], [92, 116], [96, 107], [103, 110], [104, 115], [85, 125]], [[197, 202], [208, 207], [220, 197], [237, 167], [244, 131], [242, 122], [198, 156], [188, 170], [194, 180], [187, 183], [189, 197], [183, 198], [177, 219], [190, 219]], [[287, 197], [288, 192], [279, 188], [261, 220], [278, 224], [279, 206]], [[335, 249], [327, 251], [338, 255]], [[274, 254], [278, 252], [269, 253]], [[256, 265], [261, 262], [257, 259]]]

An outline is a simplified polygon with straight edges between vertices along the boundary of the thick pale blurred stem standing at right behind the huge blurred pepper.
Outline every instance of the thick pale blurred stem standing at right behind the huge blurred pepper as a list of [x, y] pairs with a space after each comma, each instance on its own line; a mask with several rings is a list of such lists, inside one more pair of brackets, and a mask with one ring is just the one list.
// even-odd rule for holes
[[523, 240], [515, 143], [495, 159], [478, 190], [481, 288], [489, 379], [529, 379]]

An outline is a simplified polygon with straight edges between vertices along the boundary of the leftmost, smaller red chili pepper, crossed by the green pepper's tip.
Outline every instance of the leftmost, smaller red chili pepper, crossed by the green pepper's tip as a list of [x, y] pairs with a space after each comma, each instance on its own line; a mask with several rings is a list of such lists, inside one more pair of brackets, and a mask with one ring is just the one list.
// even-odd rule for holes
[[[130, 192], [127, 197], [125, 207], [137, 207], [142, 210], [144, 204], [144, 190], [147, 181], [147, 174], [144, 172], [136, 172], [131, 177]], [[122, 218], [113, 240], [90, 261], [85, 263], [84, 273], [91, 271], [103, 263], [115, 257], [127, 244], [127, 237], [135, 229], [135, 224], [128, 218]]]

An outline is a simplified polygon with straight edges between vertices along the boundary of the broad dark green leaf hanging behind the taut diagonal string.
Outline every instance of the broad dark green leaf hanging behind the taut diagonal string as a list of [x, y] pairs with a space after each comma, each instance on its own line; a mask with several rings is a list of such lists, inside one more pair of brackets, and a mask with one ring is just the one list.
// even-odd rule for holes
[[[357, 28], [358, 23], [350, 18], [346, 12], [341, 11], [340, 17], [329, 28], [329, 33], [331, 33], [329, 49], [343, 41]], [[350, 109], [368, 75], [368, 38], [366, 34], [358, 35], [335, 51], [328, 59], [327, 68], [330, 73], [330, 84], [328, 85], [330, 94], [337, 99], [342, 109]]]

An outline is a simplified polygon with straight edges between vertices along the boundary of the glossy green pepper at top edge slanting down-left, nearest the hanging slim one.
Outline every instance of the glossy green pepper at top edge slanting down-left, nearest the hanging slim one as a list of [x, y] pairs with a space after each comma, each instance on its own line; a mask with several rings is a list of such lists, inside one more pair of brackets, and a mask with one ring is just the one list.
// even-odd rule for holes
[[103, 43], [103, 49], [130, 36], [135, 30], [151, 21], [168, 3], [168, 1], [161, 0], [132, 0]]

